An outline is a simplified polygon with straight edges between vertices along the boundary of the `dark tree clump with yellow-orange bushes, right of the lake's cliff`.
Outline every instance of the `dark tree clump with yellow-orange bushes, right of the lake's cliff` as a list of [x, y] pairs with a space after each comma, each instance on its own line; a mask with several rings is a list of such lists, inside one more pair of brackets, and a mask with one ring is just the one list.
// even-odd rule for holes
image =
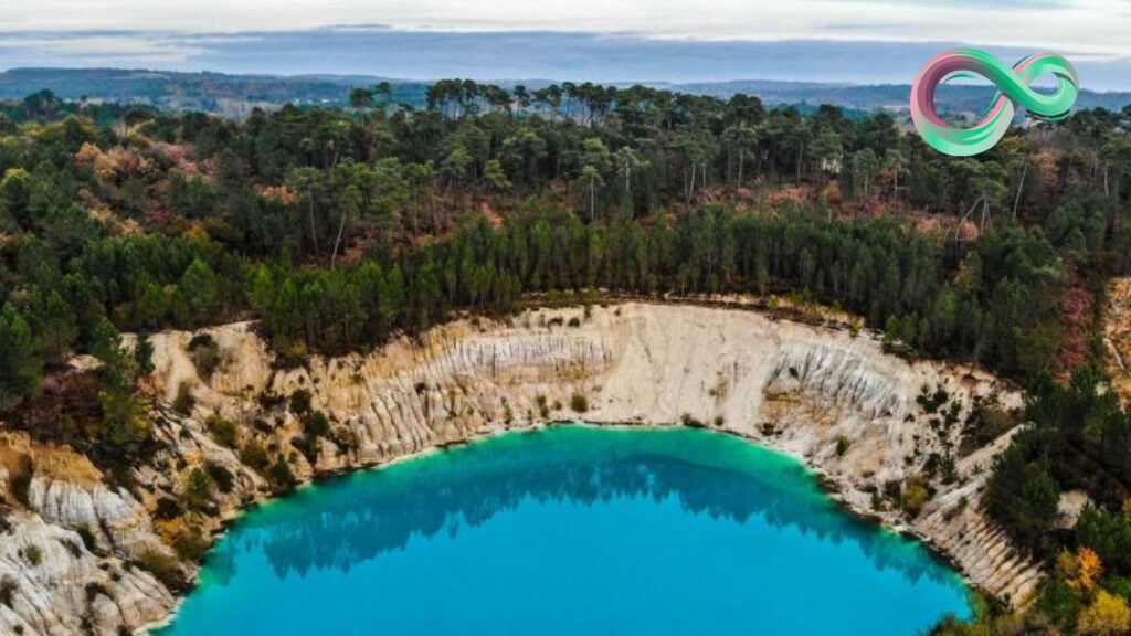
[[[1124, 634], [1131, 629], [1131, 410], [1094, 370], [1067, 384], [1038, 373], [1022, 413], [982, 413], [1027, 426], [998, 457], [985, 506], [1050, 573], [1029, 611], [982, 612], [939, 634]], [[1060, 523], [1063, 493], [1089, 501], [1074, 526]], [[999, 616], [1001, 614], [1001, 616]]]

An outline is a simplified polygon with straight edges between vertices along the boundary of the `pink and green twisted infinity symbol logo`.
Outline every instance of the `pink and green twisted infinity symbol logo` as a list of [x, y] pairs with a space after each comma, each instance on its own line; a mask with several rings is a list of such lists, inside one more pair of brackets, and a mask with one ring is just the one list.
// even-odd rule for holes
[[[1029, 84], [1045, 72], [1053, 74], [1057, 79], [1056, 91], [1050, 95], [1029, 88]], [[934, 92], [944, 81], [975, 75], [993, 83], [998, 94], [973, 128], [955, 128], [935, 113]], [[1035, 117], [1059, 121], [1068, 117], [1078, 92], [1076, 69], [1061, 55], [1038, 53], [1009, 68], [983, 51], [951, 49], [931, 58], [915, 78], [912, 85], [912, 121], [934, 149], [966, 157], [992, 148], [1005, 135], [1017, 106]]]

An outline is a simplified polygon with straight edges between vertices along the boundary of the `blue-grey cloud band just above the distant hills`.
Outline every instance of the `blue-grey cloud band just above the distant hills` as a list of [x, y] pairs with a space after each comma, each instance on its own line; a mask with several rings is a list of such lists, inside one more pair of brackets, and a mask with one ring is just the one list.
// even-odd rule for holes
[[[210, 1], [198, 0], [201, 3]], [[589, 0], [571, 1], [580, 7]], [[668, 2], [674, 5], [674, 0], [655, 1], [657, 10]], [[1099, 1], [1041, 6], [1046, 12], [1078, 12], [1080, 3]], [[1035, 51], [1057, 50], [1077, 63], [1083, 87], [1131, 88], [1131, 49], [1074, 41], [1057, 48], [1003, 44], [993, 40], [946, 36], [946, 29], [939, 31], [936, 38], [921, 41], [908, 38], [906, 34], [927, 32], [915, 31], [908, 26], [910, 23], [899, 19], [922, 19], [918, 14], [936, 10], [935, 7], [916, 9], [918, 14], [910, 16], [909, 9], [896, 9], [896, 0], [873, 0], [866, 5], [872, 8], [853, 19], [821, 16], [820, 24], [813, 22], [808, 27], [818, 35], [797, 37], [767, 37], [765, 34], [723, 37], [717, 32], [714, 36], [701, 37], [607, 28], [451, 31], [432, 26], [411, 29], [369, 20], [334, 22], [317, 28], [223, 33], [112, 26], [86, 31], [9, 31], [0, 32], [0, 68], [101, 66], [241, 74], [375, 75], [408, 79], [466, 76], [593, 81], [778, 79], [907, 84], [924, 60], [944, 48], [965, 44], [984, 48], [1005, 61]], [[1000, 15], [1009, 14], [1012, 5], [1013, 0], [967, 0], [961, 7]], [[886, 8], [884, 19], [871, 19], [877, 14], [875, 6]], [[1022, 12], [1029, 16], [1034, 9]], [[336, 17], [334, 11], [327, 11], [327, 18], [333, 17]]]

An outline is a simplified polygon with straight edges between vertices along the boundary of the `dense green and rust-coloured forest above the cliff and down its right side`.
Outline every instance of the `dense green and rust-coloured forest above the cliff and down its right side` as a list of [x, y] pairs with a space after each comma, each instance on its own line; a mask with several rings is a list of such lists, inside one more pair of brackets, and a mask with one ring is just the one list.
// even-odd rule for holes
[[[414, 109], [379, 85], [244, 121], [36, 93], [0, 104], [0, 412], [123, 465], [155, 330], [259, 319], [286, 364], [532, 299], [791, 295], [1031, 385], [1025, 413], [969, 426], [1035, 423], [987, 505], [1063, 573], [1042, 616], [1086, 631], [1131, 590], [1129, 415], [1090, 370], [1131, 265], [1129, 129], [1080, 111], [951, 158], [883, 113], [641, 86], [443, 80]], [[75, 353], [105, 363], [96, 423], [45, 424]], [[1069, 488], [1096, 502], [1073, 532]], [[1093, 557], [1104, 576], [1070, 585]]]

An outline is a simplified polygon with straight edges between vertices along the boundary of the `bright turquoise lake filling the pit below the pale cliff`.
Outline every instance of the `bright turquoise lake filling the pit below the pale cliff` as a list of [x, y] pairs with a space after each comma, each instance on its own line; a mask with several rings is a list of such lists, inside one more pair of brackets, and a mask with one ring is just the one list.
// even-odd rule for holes
[[968, 617], [967, 594], [789, 457], [705, 430], [568, 426], [249, 512], [157, 634], [909, 635]]

